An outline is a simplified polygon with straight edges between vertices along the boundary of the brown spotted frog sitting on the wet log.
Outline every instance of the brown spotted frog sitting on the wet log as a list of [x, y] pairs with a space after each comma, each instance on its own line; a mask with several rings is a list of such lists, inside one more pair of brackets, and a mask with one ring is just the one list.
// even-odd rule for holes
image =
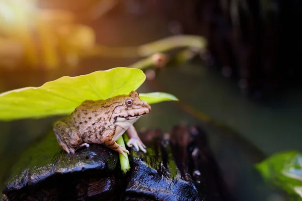
[[150, 111], [151, 107], [136, 91], [105, 100], [85, 100], [69, 116], [56, 121], [53, 132], [68, 154], [90, 144], [103, 144], [126, 156], [129, 151], [116, 143], [124, 132], [129, 137], [128, 147], [146, 153], [133, 124]]

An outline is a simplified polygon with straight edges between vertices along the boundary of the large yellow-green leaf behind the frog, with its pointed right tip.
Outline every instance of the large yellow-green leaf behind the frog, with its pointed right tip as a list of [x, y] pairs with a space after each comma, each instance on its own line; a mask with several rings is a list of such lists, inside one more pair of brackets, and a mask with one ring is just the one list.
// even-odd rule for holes
[[[26, 87], [0, 94], [0, 120], [68, 115], [84, 100], [107, 99], [136, 90], [145, 80], [139, 69], [113, 68], [77, 77], [64, 76], [40, 87]], [[145, 93], [148, 104], [177, 100], [168, 93]]]

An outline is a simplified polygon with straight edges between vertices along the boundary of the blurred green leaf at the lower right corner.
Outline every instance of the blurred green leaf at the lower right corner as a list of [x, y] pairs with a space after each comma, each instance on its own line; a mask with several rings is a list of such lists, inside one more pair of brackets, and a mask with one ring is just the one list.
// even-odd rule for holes
[[302, 200], [302, 154], [281, 152], [256, 165], [262, 177]]

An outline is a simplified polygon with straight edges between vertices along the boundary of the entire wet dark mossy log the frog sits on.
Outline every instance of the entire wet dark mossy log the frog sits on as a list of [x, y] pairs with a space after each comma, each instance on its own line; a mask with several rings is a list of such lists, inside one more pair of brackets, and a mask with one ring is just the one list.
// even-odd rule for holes
[[49, 132], [15, 163], [3, 200], [228, 200], [214, 157], [199, 127], [140, 133], [147, 153], [130, 149], [123, 175], [118, 154], [92, 144], [74, 155]]

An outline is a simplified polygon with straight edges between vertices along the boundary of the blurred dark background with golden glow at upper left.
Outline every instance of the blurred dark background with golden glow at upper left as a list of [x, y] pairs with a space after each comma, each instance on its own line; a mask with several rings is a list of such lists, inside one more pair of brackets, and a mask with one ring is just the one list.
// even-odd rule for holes
[[[287, 200], [254, 164], [302, 150], [301, 15], [294, 0], [0, 0], [0, 92], [128, 66], [142, 58], [134, 47], [202, 36], [207, 51], [140, 87], [181, 104], [153, 106], [138, 130], [203, 125], [236, 200]], [[0, 183], [56, 119], [0, 122]]]

